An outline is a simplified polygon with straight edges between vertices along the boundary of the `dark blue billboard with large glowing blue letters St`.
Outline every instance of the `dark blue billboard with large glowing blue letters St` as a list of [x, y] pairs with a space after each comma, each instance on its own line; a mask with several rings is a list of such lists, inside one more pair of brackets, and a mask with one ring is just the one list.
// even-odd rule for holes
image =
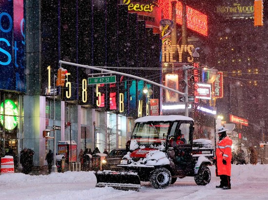
[[0, 1], [0, 89], [25, 92], [23, 0]]

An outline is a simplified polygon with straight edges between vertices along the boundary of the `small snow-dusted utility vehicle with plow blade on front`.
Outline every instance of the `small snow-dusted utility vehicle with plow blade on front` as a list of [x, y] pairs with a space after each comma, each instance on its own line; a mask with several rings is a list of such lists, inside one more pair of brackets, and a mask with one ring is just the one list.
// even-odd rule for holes
[[96, 187], [139, 191], [140, 181], [143, 181], [162, 189], [186, 176], [194, 177], [197, 185], [210, 183], [211, 171], [207, 166], [211, 161], [205, 156], [192, 155], [193, 130], [191, 117], [171, 115], [136, 119], [130, 151], [118, 165], [124, 171], [96, 172]]

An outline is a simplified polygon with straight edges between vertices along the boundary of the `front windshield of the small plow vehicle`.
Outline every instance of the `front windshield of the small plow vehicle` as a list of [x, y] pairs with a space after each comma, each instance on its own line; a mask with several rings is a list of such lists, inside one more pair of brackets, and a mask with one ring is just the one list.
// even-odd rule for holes
[[132, 139], [139, 145], [152, 147], [165, 143], [171, 122], [141, 122], [136, 123]]

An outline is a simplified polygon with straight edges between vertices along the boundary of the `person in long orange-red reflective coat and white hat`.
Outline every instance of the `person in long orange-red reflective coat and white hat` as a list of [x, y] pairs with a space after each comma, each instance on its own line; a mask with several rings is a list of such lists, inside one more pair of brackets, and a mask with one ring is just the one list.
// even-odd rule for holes
[[218, 129], [219, 141], [216, 145], [216, 176], [219, 176], [221, 179], [220, 185], [217, 185], [216, 188], [222, 189], [231, 189], [231, 146], [232, 140], [227, 136], [226, 131], [223, 126]]

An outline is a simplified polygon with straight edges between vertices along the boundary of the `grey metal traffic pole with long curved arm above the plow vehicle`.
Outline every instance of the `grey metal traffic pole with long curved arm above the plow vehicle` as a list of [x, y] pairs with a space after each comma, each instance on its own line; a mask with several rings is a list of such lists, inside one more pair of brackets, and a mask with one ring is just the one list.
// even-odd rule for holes
[[[188, 85], [187, 85], [188, 84], [188, 80], [187, 80], [188, 77], [187, 77], [187, 75], [188, 75], [188, 69], [193, 68], [193, 66], [184, 66], [187, 90], [185, 90], [185, 93], [183, 93], [183, 92], [180, 92], [178, 90], [172, 89], [170, 87], [166, 87], [166, 86], [164, 86], [162, 84], [155, 83], [155, 82], [150, 81], [148, 79], [144, 79], [144, 78], [134, 76], [134, 75], [131, 75], [131, 74], [126, 74], [126, 73], [122, 73], [122, 72], [118, 72], [118, 71], [112, 71], [112, 70], [108, 70], [108, 69], [104, 69], [104, 68], [100, 68], [100, 67], [93, 67], [93, 66], [88, 66], [88, 65], [80, 65], [80, 64], [77, 64], [77, 63], [71, 63], [71, 62], [66, 62], [66, 61], [62, 61], [62, 60], [59, 60], [58, 63], [60, 64], [60, 66], [61, 66], [61, 64], [64, 64], [64, 65], [70, 65], [70, 66], [76, 66], [76, 67], [83, 67], [83, 68], [94, 69], [94, 70], [103, 71], [103, 72], [109, 72], [109, 73], [113, 73], [113, 74], [118, 74], [118, 75], [122, 75], [122, 76], [131, 77], [131, 78], [134, 78], [134, 79], [142, 80], [142, 81], [145, 81], [147, 83], [151, 83], [153, 85], [156, 85], [156, 86], [159, 86], [161, 88], [164, 88], [166, 90], [170, 90], [170, 91], [172, 91], [174, 93], [183, 95], [185, 97], [185, 105], [188, 105]], [[188, 106], [185, 106], [185, 116], [187, 116], [187, 117], [189, 116]]]

